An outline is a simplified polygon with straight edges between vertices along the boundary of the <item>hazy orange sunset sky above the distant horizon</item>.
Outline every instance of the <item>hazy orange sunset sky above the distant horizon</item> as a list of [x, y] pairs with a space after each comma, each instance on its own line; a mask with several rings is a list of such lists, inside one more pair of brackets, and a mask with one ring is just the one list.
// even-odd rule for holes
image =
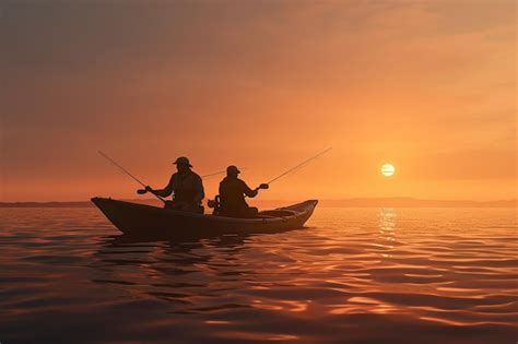
[[2, 1], [0, 199], [137, 197], [97, 150], [255, 187], [327, 146], [262, 197], [516, 198], [516, 31], [514, 0]]

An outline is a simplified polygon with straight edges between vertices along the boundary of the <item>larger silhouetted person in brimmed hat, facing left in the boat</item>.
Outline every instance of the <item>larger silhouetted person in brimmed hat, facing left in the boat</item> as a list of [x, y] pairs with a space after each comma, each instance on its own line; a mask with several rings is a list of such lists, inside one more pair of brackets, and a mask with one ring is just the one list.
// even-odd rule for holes
[[201, 177], [192, 171], [192, 165], [185, 156], [180, 156], [174, 162], [176, 164], [176, 174], [170, 176], [169, 183], [162, 190], [154, 190], [146, 186], [143, 191], [150, 191], [160, 197], [168, 197], [174, 193], [173, 201], [167, 201], [165, 207], [180, 210], [186, 212], [203, 213], [201, 201], [205, 197]]

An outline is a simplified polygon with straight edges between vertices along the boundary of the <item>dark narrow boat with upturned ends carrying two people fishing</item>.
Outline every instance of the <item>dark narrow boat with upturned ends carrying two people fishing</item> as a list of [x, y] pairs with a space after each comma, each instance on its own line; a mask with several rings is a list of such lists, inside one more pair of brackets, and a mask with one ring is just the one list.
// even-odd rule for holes
[[234, 218], [181, 212], [107, 198], [92, 202], [122, 233], [138, 236], [207, 237], [224, 234], [267, 234], [303, 228], [317, 200], [259, 212], [254, 218]]

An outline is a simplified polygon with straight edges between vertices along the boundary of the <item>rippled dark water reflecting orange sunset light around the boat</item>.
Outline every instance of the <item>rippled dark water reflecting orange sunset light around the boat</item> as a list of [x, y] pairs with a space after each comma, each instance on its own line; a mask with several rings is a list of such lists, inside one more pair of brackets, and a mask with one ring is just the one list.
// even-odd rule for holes
[[515, 209], [325, 209], [308, 228], [132, 241], [0, 209], [0, 342], [518, 341]]

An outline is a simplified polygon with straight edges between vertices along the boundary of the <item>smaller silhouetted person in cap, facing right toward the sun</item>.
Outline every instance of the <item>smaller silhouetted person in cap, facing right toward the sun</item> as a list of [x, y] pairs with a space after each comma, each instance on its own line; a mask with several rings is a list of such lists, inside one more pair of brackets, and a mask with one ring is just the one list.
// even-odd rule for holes
[[255, 217], [257, 207], [248, 206], [245, 195], [254, 198], [259, 189], [268, 189], [268, 183], [261, 183], [256, 189], [250, 189], [245, 181], [237, 178], [239, 169], [236, 166], [226, 168], [226, 177], [220, 182], [220, 216]]

